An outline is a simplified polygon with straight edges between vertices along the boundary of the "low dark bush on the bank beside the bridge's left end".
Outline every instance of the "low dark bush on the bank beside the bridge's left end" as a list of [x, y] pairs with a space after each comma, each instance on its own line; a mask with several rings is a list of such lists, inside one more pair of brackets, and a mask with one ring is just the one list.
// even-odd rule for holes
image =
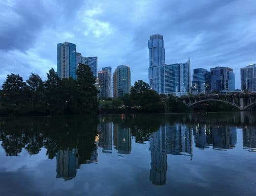
[[178, 113], [178, 112], [188, 112], [190, 109], [183, 103], [179, 98], [174, 95], [170, 95], [166, 99], [167, 112]]

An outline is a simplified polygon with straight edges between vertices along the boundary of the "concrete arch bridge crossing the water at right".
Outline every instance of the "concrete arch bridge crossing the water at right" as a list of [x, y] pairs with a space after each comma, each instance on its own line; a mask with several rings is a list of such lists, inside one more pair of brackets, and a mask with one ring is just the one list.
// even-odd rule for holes
[[256, 106], [256, 94], [212, 94], [203, 96], [181, 97], [181, 100], [189, 107], [195, 107], [199, 103], [209, 101], [220, 101], [232, 105], [237, 109], [244, 111], [250, 110]]

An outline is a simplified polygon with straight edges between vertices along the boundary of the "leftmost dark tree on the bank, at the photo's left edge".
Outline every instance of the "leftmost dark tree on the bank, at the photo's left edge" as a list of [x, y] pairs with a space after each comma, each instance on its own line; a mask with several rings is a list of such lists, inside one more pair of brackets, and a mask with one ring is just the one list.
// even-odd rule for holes
[[3, 109], [7, 112], [25, 113], [28, 105], [28, 86], [19, 74], [7, 75], [2, 84], [4, 95], [2, 96]]

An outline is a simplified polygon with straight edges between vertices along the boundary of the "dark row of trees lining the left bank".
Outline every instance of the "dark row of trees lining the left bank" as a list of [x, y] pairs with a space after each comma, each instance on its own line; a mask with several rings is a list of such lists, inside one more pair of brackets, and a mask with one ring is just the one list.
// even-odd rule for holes
[[47, 80], [31, 73], [25, 82], [19, 74], [8, 74], [2, 84], [0, 114], [86, 114], [97, 111], [96, 78], [89, 66], [79, 64], [77, 79], [60, 79], [52, 68]]

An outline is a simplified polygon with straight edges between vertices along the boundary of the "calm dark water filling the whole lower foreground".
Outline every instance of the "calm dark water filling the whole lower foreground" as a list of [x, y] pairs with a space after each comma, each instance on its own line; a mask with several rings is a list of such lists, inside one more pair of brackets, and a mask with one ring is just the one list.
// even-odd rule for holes
[[256, 195], [256, 114], [0, 119], [0, 196]]

